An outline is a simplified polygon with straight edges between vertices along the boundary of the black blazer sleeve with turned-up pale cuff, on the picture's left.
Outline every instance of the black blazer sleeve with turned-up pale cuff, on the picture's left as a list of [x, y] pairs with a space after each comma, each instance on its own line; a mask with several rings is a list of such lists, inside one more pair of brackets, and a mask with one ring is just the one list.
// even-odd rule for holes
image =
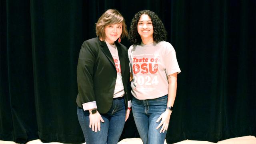
[[95, 48], [89, 46], [88, 42], [85, 41], [82, 44], [77, 65], [78, 96], [84, 110], [97, 108], [93, 88], [96, 55]]

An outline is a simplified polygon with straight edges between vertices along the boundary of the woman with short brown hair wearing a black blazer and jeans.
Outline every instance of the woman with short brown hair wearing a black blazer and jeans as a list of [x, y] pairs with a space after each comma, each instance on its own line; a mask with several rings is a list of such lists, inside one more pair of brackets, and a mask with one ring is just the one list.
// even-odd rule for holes
[[77, 115], [86, 144], [117, 144], [131, 107], [128, 51], [120, 44], [127, 30], [120, 12], [104, 12], [96, 34], [79, 54]]

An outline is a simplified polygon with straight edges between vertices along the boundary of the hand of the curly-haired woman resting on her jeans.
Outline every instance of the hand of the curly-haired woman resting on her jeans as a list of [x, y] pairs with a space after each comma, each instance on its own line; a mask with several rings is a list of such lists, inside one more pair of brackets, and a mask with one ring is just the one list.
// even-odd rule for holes
[[159, 116], [159, 118], [156, 120], [156, 122], [159, 122], [159, 121], [162, 119], [162, 121], [160, 122], [160, 124], [156, 127], [156, 129], [158, 129], [158, 128], [160, 128], [160, 127], [162, 126], [162, 128], [161, 128], [161, 130], [160, 130], [160, 133], [161, 133], [161, 132], [164, 133], [164, 131], [167, 130], [168, 125], [169, 125], [169, 121], [170, 121], [170, 116], [171, 116], [171, 114], [172, 114], [172, 111], [166, 110], [166, 111], [165, 111], [164, 113], [162, 113], [161, 116]]

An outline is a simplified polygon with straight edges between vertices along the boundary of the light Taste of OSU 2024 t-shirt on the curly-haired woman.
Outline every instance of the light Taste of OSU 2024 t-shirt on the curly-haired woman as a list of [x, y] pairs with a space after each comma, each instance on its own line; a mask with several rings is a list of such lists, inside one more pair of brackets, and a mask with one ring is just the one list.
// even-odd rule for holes
[[132, 45], [128, 50], [132, 95], [139, 100], [168, 94], [167, 76], [180, 73], [176, 53], [169, 42]]

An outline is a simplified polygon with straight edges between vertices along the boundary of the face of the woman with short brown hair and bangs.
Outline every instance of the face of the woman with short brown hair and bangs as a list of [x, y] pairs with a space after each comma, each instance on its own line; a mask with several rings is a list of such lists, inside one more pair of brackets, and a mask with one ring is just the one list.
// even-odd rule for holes
[[105, 30], [105, 40], [109, 44], [114, 44], [114, 42], [122, 34], [122, 22], [120, 22], [119, 24], [107, 25], [104, 30]]

